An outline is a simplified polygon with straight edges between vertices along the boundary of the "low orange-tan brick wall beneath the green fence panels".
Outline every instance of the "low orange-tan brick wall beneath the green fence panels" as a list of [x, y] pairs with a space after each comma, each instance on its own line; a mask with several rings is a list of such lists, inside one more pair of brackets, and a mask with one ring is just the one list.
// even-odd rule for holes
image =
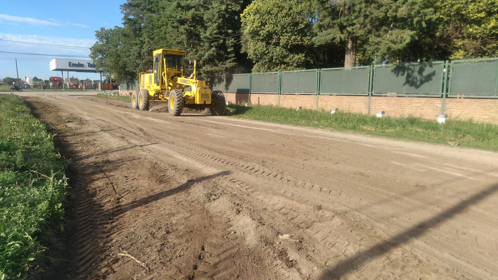
[[[249, 94], [246, 93], [226, 93], [225, 97], [231, 103], [249, 103]], [[316, 95], [282, 94], [280, 106], [316, 109], [316, 98]], [[277, 94], [251, 94], [250, 99], [251, 104], [278, 105]], [[325, 111], [339, 108], [341, 111], [367, 114], [369, 110], [368, 96], [320, 95], [318, 101], [318, 108]], [[442, 102], [442, 98], [435, 97], [372, 96], [370, 114], [384, 111], [389, 117], [413, 116], [436, 121], [441, 114]], [[472, 119], [478, 123], [498, 124], [498, 99], [446, 98], [445, 114], [450, 120]]]

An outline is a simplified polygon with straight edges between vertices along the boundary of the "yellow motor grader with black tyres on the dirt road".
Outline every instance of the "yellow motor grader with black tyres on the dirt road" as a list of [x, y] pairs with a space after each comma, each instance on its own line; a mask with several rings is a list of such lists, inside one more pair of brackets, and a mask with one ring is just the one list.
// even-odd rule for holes
[[212, 115], [225, 114], [225, 96], [211, 91], [206, 81], [198, 80], [196, 62], [190, 77], [184, 76], [185, 51], [158, 49], [153, 52], [154, 69], [139, 73], [139, 90], [131, 94], [131, 107], [149, 110], [167, 105], [172, 116], [180, 116], [184, 107], [209, 108]]

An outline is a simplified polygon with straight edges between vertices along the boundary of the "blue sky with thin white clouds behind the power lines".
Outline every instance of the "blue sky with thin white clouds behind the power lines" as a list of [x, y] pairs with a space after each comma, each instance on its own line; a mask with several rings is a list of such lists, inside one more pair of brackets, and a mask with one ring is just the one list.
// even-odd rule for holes
[[[15, 58], [19, 78], [48, 79], [61, 76], [60, 71], [50, 71], [50, 61], [57, 55], [71, 55], [74, 59], [90, 59], [89, 49], [56, 48], [11, 41], [42, 43], [64, 46], [91, 47], [95, 31], [101, 27], [122, 26], [120, 5], [126, 0], [86, 1], [1, 1], [0, 8], [0, 79], [16, 77]], [[34, 53], [50, 56], [13, 54]], [[69, 77], [98, 80], [100, 74], [69, 72]], [[66, 73], [64, 72], [64, 78]]]

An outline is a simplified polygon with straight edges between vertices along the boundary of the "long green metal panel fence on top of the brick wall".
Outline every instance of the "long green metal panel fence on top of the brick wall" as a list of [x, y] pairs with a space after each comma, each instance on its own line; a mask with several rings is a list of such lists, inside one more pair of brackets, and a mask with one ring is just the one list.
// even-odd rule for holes
[[[134, 90], [138, 82], [120, 86]], [[211, 86], [248, 94], [498, 98], [498, 58], [235, 74]]]

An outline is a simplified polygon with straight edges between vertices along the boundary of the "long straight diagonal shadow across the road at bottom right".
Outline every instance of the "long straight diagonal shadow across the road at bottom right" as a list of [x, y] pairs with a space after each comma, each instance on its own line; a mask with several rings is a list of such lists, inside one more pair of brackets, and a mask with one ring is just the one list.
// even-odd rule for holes
[[397, 234], [396, 236], [379, 243], [372, 248], [357, 253], [346, 260], [341, 261], [334, 268], [329, 269], [325, 272], [319, 280], [329, 280], [329, 279], [341, 279], [350, 271], [355, 270], [356, 267], [362, 266], [369, 260], [378, 257], [384, 253], [389, 252], [391, 249], [396, 248], [404, 243], [407, 243], [413, 238], [417, 238], [427, 232], [430, 228], [436, 227], [438, 224], [452, 218], [465, 211], [469, 206], [478, 203], [479, 201], [485, 199], [486, 197], [495, 194], [498, 191], [498, 184], [491, 185], [487, 189], [472, 195], [468, 199], [465, 199], [455, 206], [449, 208], [448, 210], [436, 215], [428, 220], [418, 223], [407, 230]]

